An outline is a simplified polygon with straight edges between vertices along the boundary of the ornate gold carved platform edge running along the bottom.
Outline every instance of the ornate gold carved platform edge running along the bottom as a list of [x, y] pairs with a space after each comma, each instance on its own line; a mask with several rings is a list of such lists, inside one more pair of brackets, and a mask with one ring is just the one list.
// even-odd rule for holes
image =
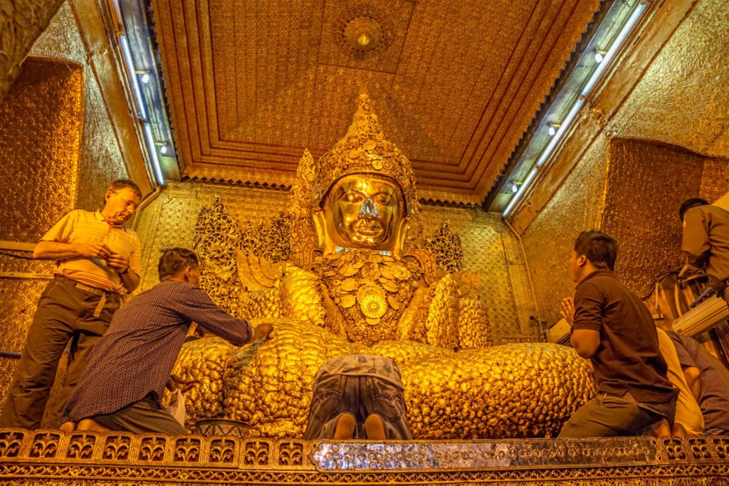
[[0, 430], [3, 485], [729, 485], [729, 436], [308, 442]]

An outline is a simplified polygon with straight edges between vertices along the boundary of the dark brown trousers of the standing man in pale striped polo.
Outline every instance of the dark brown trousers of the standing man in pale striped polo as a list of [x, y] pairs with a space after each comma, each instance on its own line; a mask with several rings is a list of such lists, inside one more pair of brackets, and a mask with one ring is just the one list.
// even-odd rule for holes
[[[106, 302], [98, 309], [102, 297]], [[30, 429], [41, 426], [58, 361], [73, 337], [63, 387], [50, 411], [49, 426], [58, 426], [61, 409], [81, 377], [89, 351], [104, 335], [119, 306], [119, 294], [95, 294], [61, 277], [48, 283], [15, 368], [0, 426]]]

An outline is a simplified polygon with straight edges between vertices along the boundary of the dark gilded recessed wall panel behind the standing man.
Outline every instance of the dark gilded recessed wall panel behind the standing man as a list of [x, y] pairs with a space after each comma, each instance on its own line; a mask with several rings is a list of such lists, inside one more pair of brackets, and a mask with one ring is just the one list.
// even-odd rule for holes
[[[0, 103], [3, 240], [37, 241], [74, 207], [82, 129], [78, 66], [28, 59]], [[31, 224], [28, 224], [31, 222]]]

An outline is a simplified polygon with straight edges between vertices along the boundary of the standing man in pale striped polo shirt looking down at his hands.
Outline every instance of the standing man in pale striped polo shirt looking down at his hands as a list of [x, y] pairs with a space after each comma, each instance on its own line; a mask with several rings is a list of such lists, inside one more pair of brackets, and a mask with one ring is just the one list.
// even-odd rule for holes
[[0, 426], [41, 426], [58, 361], [71, 340], [63, 388], [49, 418], [50, 426], [58, 426], [88, 352], [120, 306], [120, 295], [139, 285], [139, 237], [122, 224], [140, 200], [136, 184], [117, 179], [104, 193], [104, 208], [71, 211], [36, 246], [36, 259], [56, 261], [55, 276], [38, 301]]

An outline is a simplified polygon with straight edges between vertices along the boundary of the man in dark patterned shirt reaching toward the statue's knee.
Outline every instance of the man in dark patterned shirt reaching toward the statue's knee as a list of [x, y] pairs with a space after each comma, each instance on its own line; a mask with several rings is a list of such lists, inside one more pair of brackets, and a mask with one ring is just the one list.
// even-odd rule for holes
[[79, 384], [63, 409], [62, 429], [186, 434], [161, 405], [165, 385], [192, 321], [233, 345], [268, 337], [215, 305], [198, 287], [198, 257], [185, 248], [165, 251], [160, 283], [125, 303], [90, 353]]

